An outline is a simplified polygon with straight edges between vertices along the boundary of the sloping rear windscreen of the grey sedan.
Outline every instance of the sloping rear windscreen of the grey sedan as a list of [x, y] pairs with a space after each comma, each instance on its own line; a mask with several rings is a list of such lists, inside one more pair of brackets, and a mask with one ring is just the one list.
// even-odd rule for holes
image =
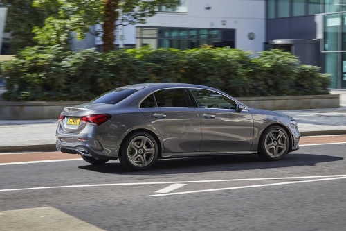
[[131, 94], [137, 92], [136, 89], [113, 89], [110, 92], [104, 93], [101, 96], [90, 101], [90, 103], [107, 103], [107, 104], [116, 104], [126, 99]]

